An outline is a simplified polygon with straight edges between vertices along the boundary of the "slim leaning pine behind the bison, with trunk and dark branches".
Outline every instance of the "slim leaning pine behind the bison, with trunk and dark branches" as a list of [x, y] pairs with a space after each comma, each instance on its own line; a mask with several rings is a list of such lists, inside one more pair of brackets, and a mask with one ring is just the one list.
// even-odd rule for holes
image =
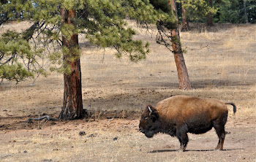
[[168, 15], [157, 22], [157, 42], [165, 45], [165, 47], [173, 53], [178, 72], [179, 88], [189, 90], [191, 88], [191, 84], [189, 74], [187, 72], [187, 66], [184, 61], [183, 50], [181, 48], [176, 1], [162, 0], [151, 1], [151, 3], [156, 7], [156, 9], [159, 9], [159, 12], [164, 12]]

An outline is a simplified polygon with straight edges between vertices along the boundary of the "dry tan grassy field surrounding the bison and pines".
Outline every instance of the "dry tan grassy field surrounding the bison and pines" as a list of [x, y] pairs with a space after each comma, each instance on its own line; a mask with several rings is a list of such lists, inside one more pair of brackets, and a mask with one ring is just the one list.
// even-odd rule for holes
[[[29, 23], [0, 28], [23, 30]], [[22, 26], [23, 28], [20, 28]], [[135, 25], [131, 25], [135, 26]], [[75, 121], [34, 121], [58, 117], [63, 102], [62, 74], [33, 81], [4, 80], [0, 86], [0, 161], [256, 161], [256, 26], [191, 24], [181, 33], [192, 90], [178, 90], [173, 54], [155, 43], [155, 29], [135, 27], [135, 39], [150, 42], [147, 59], [132, 63], [115, 50], [93, 47], [80, 39], [83, 107], [94, 112]], [[189, 134], [187, 152], [178, 139], [138, 131], [140, 112], [169, 96], [184, 94], [233, 101], [229, 107], [224, 151], [214, 151], [217, 135]], [[118, 117], [118, 118], [116, 118]], [[39, 129], [40, 128], [40, 129]], [[80, 136], [79, 132], [86, 135]]]

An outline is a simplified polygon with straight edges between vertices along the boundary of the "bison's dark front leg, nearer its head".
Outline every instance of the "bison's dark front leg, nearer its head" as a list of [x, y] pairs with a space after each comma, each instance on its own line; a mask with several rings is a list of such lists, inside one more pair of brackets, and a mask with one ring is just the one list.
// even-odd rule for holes
[[187, 143], [189, 142], [189, 137], [187, 136], [188, 128], [187, 124], [184, 124], [176, 131], [179, 142], [181, 143], [181, 151], [185, 151]]

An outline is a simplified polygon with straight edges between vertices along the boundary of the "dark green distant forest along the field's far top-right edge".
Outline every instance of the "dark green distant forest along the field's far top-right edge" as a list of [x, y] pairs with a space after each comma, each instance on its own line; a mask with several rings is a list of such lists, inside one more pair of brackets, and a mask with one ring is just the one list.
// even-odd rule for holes
[[255, 0], [180, 0], [177, 6], [184, 31], [189, 23], [256, 23]]

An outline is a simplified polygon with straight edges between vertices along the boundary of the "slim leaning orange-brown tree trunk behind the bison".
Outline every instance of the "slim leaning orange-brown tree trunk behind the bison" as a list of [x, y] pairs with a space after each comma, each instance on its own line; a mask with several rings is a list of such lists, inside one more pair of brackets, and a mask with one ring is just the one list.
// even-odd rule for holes
[[[178, 20], [177, 9], [176, 9], [176, 0], [170, 0], [170, 5], [172, 7], [173, 12], [176, 14], [176, 20]], [[187, 66], [185, 64], [183, 52], [181, 49], [181, 41], [179, 36], [178, 27], [171, 31], [172, 37], [172, 46], [173, 46], [173, 54], [176, 62], [177, 72], [178, 72], [178, 88], [183, 90], [189, 90], [191, 88], [189, 74], [187, 72]]]

